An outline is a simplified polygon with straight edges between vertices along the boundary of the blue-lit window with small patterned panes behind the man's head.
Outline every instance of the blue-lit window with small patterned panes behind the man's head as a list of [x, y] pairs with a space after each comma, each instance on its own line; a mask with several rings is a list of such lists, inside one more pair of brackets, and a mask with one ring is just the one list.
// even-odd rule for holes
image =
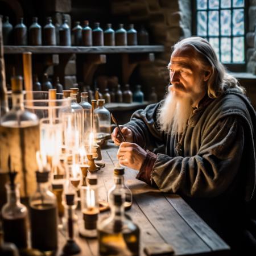
[[245, 0], [196, 0], [196, 35], [224, 64], [245, 64]]

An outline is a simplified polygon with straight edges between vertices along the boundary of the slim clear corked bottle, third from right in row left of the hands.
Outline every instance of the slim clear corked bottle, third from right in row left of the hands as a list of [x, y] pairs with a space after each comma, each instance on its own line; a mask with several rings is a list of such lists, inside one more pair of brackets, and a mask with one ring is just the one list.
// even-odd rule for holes
[[81, 102], [80, 105], [83, 109], [84, 114], [84, 144], [89, 146], [89, 137], [92, 133], [92, 105], [88, 102], [88, 92], [81, 93]]

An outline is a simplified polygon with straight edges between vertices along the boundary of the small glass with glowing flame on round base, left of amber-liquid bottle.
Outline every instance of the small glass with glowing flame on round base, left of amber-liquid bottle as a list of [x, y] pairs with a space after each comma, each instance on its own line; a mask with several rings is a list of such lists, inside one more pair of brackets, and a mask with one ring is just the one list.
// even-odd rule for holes
[[97, 175], [86, 177], [86, 187], [81, 187], [82, 220], [79, 233], [84, 237], [97, 237], [97, 220], [100, 213], [98, 206]]

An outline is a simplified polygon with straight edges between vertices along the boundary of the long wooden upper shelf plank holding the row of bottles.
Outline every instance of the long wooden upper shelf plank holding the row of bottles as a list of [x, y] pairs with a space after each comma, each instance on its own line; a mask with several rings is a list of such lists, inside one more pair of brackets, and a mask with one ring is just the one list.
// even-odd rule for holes
[[164, 46], [4, 46], [5, 54], [44, 53], [143, 53], [163, 52]]

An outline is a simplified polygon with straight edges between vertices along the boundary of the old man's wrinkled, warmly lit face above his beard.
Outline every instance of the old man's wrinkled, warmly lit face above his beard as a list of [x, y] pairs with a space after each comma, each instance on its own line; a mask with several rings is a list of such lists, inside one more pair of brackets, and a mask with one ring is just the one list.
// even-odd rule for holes
[[201, 100], [206, 93], [205, 81], [208, 72], [205, 72], [200, 62], [196, 60], [193, 49], [177, 49], [172, 53], [170, 63], [170, 92], [177, 97], [189, 97], [192, 102]]

